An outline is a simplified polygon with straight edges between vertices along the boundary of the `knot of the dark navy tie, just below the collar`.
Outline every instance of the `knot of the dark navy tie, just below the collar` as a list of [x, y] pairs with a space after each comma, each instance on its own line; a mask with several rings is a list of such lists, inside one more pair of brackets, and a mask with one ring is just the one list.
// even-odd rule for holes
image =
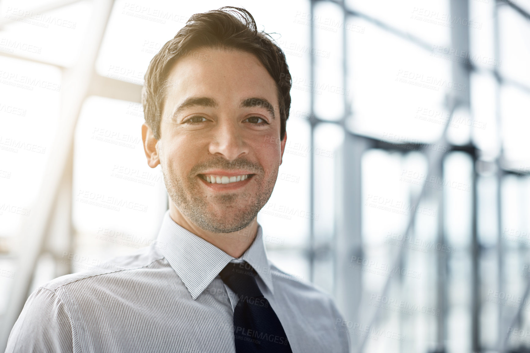
[[229, 262], [219, 272], [219, 277], [238, 297], [259, 297], [263, 295], [256, 283], [258, 272], [246, 261], [240, 263]]

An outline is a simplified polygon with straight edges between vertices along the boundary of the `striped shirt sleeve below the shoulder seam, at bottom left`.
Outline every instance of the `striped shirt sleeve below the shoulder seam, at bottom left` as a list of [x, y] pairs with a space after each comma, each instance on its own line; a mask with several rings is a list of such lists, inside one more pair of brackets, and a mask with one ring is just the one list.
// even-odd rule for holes
[[72, 352], [72, 324], [65, 304], [52, 290], [39, 288], [26, 301], [7, 341], [6, 353]]

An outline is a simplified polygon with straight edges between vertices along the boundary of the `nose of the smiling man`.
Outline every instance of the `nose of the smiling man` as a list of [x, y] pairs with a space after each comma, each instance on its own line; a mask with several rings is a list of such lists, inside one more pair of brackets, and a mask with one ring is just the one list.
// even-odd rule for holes
[[244, 142], [242, 131], [233, 119], [222, 120], [217, 125], [213, 139], [209, 145], [209, 152], [226, 158], [228, 161], [249, 153], [249, 146]]

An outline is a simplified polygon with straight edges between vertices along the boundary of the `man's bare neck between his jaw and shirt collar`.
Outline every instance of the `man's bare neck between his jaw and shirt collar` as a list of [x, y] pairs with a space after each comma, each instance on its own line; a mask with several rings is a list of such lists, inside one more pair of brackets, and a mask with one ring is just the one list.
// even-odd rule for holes
[[176, 224], [201, 237], [208, 243], [217, 246], [217, 248], [223, 250], [234, 258], [240, 258], [246, 249], [250, 248], [250, 245], [254, 241], [254, 238], [258, 232], [257, 217], [254, 217], [248, 226], [236, 232], [214, 233], [206, 231], [198, 227], [195, 223], [191, 222], [188, 217], [182, 214], [181, 211], [173, 204], [171, 199], [169, 205], [171, 219], [173, 219]]

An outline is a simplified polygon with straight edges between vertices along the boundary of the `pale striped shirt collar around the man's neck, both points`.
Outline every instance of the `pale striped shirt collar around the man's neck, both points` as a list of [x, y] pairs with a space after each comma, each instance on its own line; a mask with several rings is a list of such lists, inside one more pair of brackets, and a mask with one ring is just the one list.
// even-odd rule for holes
[[[167, 262], [179, 275], [193, 299], [197, 299], [228, 262], [239, 261], [177, 224], [169, 210], [164, 215], [156, 240]], [[248, 262], [270, 292], [274, 293], [261, 225], [258, 224], [254, 241], [240, 259]]]

